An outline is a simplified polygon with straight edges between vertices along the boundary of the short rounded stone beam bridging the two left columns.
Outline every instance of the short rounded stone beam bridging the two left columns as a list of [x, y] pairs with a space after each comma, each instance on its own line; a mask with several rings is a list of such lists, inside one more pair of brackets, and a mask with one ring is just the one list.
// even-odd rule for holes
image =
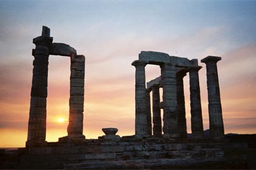
[[76, 50], [66, 43], [52, 43], [49, 54], [71, 56], [76, 54]]

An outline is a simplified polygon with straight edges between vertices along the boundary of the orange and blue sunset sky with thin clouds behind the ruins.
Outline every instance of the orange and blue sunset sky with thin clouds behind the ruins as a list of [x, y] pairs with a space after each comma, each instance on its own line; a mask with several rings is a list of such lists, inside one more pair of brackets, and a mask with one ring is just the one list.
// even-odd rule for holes
[[[85, 55], [87, 139], [116, 127], [133, 135], [135, 67], [144, 51], [198, 59], [204, 129], [209, 128], [205, 64], [217, 63], [225, 133], [256, 133], [256, 1], [0, 1], [0, 147], [24, 147], [32, 85], [32, 39], [42, 25], [53, 42]], [[146, 81], [160, 76], [147, 65]], [[188, 76], [184, 79], [190, 128]], [[47, 137], [67, 135], [70, 58], [49, 57]], [[63, 118], [63, 122], [59, 122]]]

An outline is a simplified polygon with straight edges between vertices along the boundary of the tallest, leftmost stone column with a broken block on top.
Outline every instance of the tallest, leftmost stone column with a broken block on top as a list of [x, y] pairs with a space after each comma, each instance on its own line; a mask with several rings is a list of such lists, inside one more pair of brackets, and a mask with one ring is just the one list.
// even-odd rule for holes
[[46, 98], [49, 48], [52, 44], [50, 29], [42, 27], [42, 36], [34, 38], [35, 50], [32, 51], [33, 79], [31, 88], [30, 111], [28, 120], [28, 138], [26, 146], [46, 145]]

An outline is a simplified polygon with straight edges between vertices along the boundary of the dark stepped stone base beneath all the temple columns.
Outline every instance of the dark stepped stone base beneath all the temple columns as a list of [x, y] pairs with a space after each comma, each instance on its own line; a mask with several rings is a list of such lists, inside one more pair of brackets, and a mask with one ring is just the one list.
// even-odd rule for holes
[[20, 157], [20, 165], [25, 169], [231, 169], [245, 166], [245, 149], [246, 142], [87, 139], [79, 145], [49, 142], [46, 147], [29, 147]]

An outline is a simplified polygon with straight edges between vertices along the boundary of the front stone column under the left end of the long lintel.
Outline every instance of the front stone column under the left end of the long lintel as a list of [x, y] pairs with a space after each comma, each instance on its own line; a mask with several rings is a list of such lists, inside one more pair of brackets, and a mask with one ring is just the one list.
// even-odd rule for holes
[[135, 60], [131, 65], [135, 72], [135, 135], [147, 135], [147, 104], [145, 89], [145, 65], [142, 60]]

